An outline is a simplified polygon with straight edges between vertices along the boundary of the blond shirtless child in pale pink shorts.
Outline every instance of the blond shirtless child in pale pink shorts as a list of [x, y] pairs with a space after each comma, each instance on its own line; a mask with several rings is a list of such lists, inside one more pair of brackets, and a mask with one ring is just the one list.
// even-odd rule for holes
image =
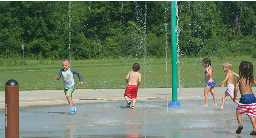
[[[233, 80], [234, 80], [234, 76], [238, 77], [238, 75], [235, 72], [231, 71], [231, 68], [232, 68], [231, 62], [223, 63], [222, 67], [223, 67], [223, 70], [227, 73], [226, 73], [226, 77], [225, 77], [224, 81], [221, 82], [221, 86], [224, 88], [224, 83], [226, 82], [227, 88], [226, 88], [225, 93], [222, 95], [222, 104], [221, 104], [221, 106], [217, 107], [219, 109], [223, 109], [223, 106], [224, 106], [224, 103], [225, 103], [225, 98], [227, 96], [230, 96], [231, 100], [233, 100], [233, 98], [234, 98], [233, 93], [234, 93], [234, 88], [235, 88], [234, 85], [233, 85]], [[236, 101], [236, 103], [237, 104], [239, 103], [238, 100]]]

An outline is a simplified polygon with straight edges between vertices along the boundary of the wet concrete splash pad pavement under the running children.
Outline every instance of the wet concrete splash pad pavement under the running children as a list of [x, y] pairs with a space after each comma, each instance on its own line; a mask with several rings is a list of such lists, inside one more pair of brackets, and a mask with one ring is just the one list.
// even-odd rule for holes
[[[253, 127], [247, 115], [242, 115], [244, 129], [241, 134], [235, 133], [238, 127], [235, 111], [237, 104], [229, 97], [226, 98], [223, 110], [214, 106], [201, 107], [204, 105], [203, 91], [200, 89], [198, 93], [201, 93], [201, 96], [197, 96], [196, 90], [190, 89], [195, 91], [194, 96], [185, 96], [183, 93], [183, 97], [178, 98], [182, 107], [167, 108], [166, 93], [164, 95], [163, 92], [166, 92], [166, 89], [162, 91], [163, 97], [159, 97], [161, 90], [156, 89], [157, 92], [151, 90], [155, 97], [152, 94], [148, 95], [146, 100], [144, 97], [138, 98], [134, 110], [126, 108], [123, 96], [115, 97], [113, 93], [101, 90], [110, 98], [95, 96], [74, 100], [77, 112], [72, 116], [68, 113], [69, 105], [65, 99], [44, 101], [38, 99], [38, 102], [25, 102], [25, 99], [20, 98], [22, 106], [19, 108], [19, 136], [20, 138], [256, 138], [249, 135]], [[20, 92], [20, 97], [23, 97], [21, 95], [24, 93], [22, 93], [23, 91]], [[221, 94], [221, 91], [216, 92], [218, 105], [221, 104]], [[1, 92], [1, 98], [2, 96]], [[171, 100], [170, 97], [169, 99]], [[65, 104], [62, 103], [64, 101]], [[46, 105], [42, 104], [46, 102]], [[32, 103], [34, 106], [31, 106]], [[209, 105], [213, 105], [210, 94]], [[1, 108], [0, 125], [0, 136], [4, 138], [4, 108]]]

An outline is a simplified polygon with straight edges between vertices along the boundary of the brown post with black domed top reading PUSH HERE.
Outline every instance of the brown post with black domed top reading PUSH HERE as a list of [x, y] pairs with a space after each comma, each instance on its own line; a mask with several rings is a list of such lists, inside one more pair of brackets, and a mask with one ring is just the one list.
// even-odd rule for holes
[[5, 83], [5, 137], [19, 138], [19, 83]]

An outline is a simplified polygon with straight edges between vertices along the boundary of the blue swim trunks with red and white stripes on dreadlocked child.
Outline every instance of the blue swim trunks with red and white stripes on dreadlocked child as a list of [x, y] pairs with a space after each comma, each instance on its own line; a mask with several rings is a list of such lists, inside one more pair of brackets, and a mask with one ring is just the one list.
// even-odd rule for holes
[[240, 114], [245, 113], [246, 115], [256, 116], [256, 98], [254, 93], [241, 95], [237, 112]]

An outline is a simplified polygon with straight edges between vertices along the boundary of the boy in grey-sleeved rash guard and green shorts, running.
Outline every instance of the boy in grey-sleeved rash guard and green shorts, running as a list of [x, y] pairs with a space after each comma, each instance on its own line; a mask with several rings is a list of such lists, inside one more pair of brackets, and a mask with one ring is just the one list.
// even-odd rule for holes
[[70, 61], [69, 59], [63, 59], [62, 60], [62, 68], [59, 72], [59, 75], [55, 77], [55, 79], [59, 80], [61, 75], [63, 76], [63, 86], [64, 86], [64, 92], [66, 95], [66, 98], [68, 100], [68, 103], [70, 105], [71, 114], [74, 114], [77, 110], [76, 107], [74, 107], [73, 101], [72, 101], [72, 93], [75, 90], [75, 81], [74, 81], [74, 74], [76, 74], [79, 78], [79, 84], [83, 84], [83, 78], [81, 77], [80, 73], [74, 69], [69, 68], [70, 67]]

